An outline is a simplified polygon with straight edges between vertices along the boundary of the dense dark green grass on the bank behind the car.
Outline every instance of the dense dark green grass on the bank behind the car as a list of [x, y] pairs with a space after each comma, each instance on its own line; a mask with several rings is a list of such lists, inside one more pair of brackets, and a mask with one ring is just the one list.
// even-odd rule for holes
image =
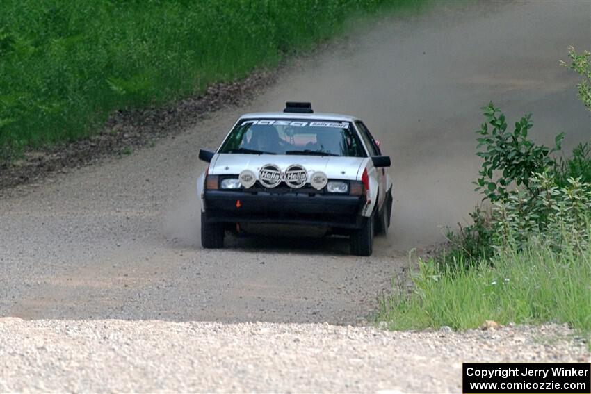
[[204, 92], [423, 0], [2, 0], [0, 154]]

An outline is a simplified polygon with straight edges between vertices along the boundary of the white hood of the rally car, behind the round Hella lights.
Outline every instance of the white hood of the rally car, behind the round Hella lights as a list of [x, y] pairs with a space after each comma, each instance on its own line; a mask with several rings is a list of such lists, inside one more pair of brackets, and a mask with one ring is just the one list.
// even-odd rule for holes
[[209, 174], [240, 174], [243, 170], [251, 170], [259, 174], [261, 167], [266, 164], [275, 164], [282, 171], [290, 165], [299, 164], [305, 167], [308, 173], [322, 171], [330, 179], [354, 181], [365, 159], [341, 156], [216, 154], [209, 166]]

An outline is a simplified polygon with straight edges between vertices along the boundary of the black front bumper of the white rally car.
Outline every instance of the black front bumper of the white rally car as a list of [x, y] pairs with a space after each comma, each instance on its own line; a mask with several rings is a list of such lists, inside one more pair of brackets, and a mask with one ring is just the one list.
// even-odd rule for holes
[[205, 220], [211, 223], [308, 224], [358, 229], [364, 197], [307, 192], [206, 190]]

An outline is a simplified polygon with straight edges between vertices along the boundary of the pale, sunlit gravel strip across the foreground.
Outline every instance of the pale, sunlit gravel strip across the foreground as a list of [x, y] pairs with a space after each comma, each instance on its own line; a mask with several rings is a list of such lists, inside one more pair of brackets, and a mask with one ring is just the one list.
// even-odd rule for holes
[[563, 325], [391, 332], [328, 324], [0, 322], [0, 391], [461, 391], [462, 361], [590, 361]]

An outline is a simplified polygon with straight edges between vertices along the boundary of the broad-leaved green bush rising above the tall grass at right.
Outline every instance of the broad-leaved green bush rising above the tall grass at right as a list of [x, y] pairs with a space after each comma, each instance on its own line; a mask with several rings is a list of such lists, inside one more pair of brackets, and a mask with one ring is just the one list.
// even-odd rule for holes
[[[489, 257], [509, 243], [523, 247], [530, 238], [557, 251], [565, 242], [586, 246], [585, 229], [591, 220], [588, 145], [578, 145], [572, 158], [559, 163], [551, 154], [560, 150], [562, 133], [556, 136], [553, 148], [537, 145], [528, 139], [531, 115], [522, 117], [515, 123], [515, 131], [508, 133], [499, 108], [490, 103], [483, 110], [488, 123], [477, 131], [482, 136], [478, 148], [484, 149], [477, 153], [483, 165], [475, 183], [484, 199], [493, 202], [493, 208], [489, 218], [477, 209], [471, 214], [474, 224], [451, 238], [460, 244], [455, 250], [462, 252], [464, 265], [471, 266], [474, 257]], [[476, 254], [472, 252], [474, 245], [478, 245]]]

